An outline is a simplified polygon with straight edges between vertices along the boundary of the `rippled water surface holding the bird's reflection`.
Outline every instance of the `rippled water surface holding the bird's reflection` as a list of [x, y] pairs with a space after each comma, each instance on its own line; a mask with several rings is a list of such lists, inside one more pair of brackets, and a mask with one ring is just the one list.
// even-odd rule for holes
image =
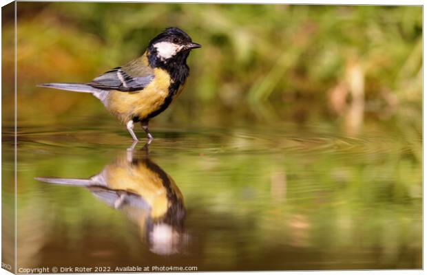
[[393, 129], [152, 130], [129, 151], [115, 124], [19, 123], [18, 267], [421, 268], [419, 152]]

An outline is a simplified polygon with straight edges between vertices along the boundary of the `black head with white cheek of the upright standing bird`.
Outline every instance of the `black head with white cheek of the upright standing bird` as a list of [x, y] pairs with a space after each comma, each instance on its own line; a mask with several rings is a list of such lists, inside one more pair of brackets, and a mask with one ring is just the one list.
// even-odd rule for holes
[[191, 49], [202, 47], [178, 28], [167, 28], [149, 42], [149, 61], [153, 67], [176, 63], [185, 65]]

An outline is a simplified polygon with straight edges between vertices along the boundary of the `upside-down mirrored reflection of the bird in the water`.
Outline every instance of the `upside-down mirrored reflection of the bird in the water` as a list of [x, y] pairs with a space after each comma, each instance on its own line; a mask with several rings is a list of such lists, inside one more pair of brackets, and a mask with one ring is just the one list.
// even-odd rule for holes
[[128, 149], [89, 179], [36, 179], [87, 188], [136, 223], [152, 252], [176, 254], [188, 239], [183, 229], [183, 195], [174, 179], [149, 159], [147, 145], [138, 151]]

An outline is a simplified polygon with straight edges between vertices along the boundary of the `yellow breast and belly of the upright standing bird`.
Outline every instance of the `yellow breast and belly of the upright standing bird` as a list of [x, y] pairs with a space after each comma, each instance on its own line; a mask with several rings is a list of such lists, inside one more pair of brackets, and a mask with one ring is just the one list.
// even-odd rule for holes
[[171, 78], [163, 69], [154, 69], [154, 79], [142, 91], [110, 91], [105, 107], [121, 122], [137, 117], [141, 120], [158, 110], [169, 94]]

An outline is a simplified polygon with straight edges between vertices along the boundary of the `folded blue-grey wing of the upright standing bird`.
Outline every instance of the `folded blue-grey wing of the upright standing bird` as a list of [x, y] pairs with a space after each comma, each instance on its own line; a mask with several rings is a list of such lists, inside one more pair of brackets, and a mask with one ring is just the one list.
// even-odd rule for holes
[[140, 91], [147, 87], [154, 79], [154, 74], [143, 76], [129, 76], [121, 67], [116, 67], [105, 74], [94, 78], [87, 83], [98, 89], [118, 90], [118, 91]]

